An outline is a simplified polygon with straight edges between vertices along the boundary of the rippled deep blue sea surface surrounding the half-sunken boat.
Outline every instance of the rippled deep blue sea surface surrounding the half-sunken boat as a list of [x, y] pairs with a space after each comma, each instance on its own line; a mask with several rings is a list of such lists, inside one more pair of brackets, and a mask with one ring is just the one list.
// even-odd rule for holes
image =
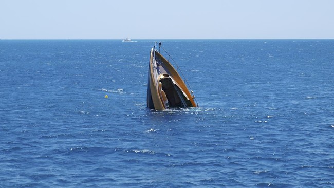
[[334, 40], [161, 42], [199, 107], [155, 40], [0, 40], [0, 187], [334, 187]]

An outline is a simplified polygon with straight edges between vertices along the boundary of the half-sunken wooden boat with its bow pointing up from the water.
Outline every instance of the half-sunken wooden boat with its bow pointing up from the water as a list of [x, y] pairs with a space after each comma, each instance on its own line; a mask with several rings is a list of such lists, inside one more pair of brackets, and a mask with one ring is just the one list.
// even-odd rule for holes
[[[189, 91], [187, 80], [182, 80], [181, 70], [177, 69], [169, 62], [174, 60], [170, 57], [159, 44], [159, 51], [156, 48], [157, 43], [151, 49], [149, 65], [149, 83], [147, 84], [147, 107], [163, 110], [176, 107], [196, 107], [193, 91]], [[160, 48], [168, 54], [166, 60], [160, 53]], [[175, 62], [174, 62], [175, 63]], [[183, 76], [183, 74], [182, 74]], [[187, 84], [186, 84], [187, 83]], [[190, 87], [189, 87], [190, 88]]]

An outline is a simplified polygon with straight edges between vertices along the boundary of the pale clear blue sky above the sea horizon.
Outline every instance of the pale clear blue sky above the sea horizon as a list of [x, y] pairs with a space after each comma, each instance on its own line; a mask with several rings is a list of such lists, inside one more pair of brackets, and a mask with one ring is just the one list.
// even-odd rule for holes
[[0, 0], [0, 39], [334, 39], [333, 0]]

